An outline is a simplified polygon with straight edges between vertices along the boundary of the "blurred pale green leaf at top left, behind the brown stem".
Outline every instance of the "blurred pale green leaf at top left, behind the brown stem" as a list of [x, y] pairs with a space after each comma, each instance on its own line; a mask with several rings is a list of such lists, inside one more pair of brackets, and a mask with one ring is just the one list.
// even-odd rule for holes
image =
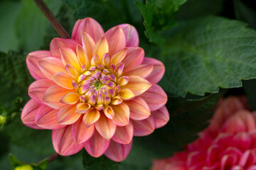
[[[40, 50], [50, 23], [34, 1], [22, 0], [21, 2], [21, 12], [16, 20], [18, 44], [22, 50], [28, 52]], [[46, 0], [46, 4], [55, 15], [62, 5], [60, 0]]]

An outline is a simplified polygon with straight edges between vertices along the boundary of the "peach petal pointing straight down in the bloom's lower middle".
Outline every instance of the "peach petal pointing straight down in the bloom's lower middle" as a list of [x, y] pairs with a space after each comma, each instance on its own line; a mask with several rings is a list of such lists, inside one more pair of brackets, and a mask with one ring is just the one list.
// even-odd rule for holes
[[100, 119], [95, 123], [95, 128], [106, 140], [110, 140], [116, 131], [117, 125], [105, 115], [100, 115]]

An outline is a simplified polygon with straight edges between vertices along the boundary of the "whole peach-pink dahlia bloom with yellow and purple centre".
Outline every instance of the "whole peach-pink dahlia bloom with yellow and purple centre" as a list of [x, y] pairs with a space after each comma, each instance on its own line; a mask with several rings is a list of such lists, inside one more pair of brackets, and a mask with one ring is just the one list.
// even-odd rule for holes
[[157, 83], [164, 64], [144, 57], [137, 30], [122, 24], [104, 30], [92, 18], [78, 20], [72, 38], [54, 38], [50, 51], [28, 54], [36, 79], [21, 113], [25, 125], [53, 130], [55, 152], [85, 147], [92, 157], [124, 160], [133, 136], [149, 135], [169, 120], [166, 93]]

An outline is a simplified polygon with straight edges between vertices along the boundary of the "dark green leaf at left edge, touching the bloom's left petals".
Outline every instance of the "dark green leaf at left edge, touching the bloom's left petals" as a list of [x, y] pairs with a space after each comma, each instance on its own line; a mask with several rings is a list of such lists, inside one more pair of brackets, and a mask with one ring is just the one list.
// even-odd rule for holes
[[26, 54], [0, 52], [0, 106], [13, 108], [14, 99], [21, 96], [28, 100], [28, 86], [33, 78], [26, 67]]

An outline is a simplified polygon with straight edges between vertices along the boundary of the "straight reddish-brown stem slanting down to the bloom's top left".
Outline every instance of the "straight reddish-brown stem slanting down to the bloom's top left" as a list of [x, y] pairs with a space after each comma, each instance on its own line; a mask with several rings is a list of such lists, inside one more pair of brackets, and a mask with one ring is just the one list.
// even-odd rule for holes
[[43, 14], [46, 16], [48, 21], [50, 21], [51, 25], [57, 31], [58, 35], [60, 35], [61, 38], [70, 38], [70, 35], [68, 35], [67, 31], [65, 31], [63, 26], [61, 26], [57, 18], [55, 18], [53, 13], [46, 6], [46, 3], [44, 3], [44, 1], [42, 0], [34, 0], [34, 1], [36, 2], [36, 5], [41, 9]]

